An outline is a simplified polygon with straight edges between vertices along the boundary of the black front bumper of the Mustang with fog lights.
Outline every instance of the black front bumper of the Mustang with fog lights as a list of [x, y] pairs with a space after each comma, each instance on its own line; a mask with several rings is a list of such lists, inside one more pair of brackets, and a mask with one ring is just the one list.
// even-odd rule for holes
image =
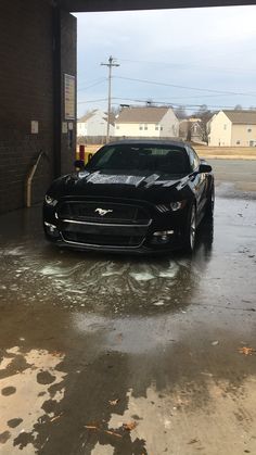
[[43, 228], [47, 239], [59, 247], [115, 253], [163, 253], [182, 247], [185, 212], [161, 214], [153, 206], [149, 210], [149, 219], [143, 223], [106, 223], [105, 219], [60, 218], [57, 207], [44, 204]]

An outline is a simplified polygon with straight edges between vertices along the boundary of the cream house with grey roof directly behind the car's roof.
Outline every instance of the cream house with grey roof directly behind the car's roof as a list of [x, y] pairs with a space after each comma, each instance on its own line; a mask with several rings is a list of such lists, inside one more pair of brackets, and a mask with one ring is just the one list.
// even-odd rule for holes
[[115, 119], [115, 136], [178, 138], [179, 121], [171, 108], [123, 108]]

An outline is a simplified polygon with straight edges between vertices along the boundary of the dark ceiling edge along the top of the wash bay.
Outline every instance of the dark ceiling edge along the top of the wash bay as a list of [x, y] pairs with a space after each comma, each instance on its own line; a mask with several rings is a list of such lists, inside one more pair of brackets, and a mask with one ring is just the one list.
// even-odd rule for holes
[[59, 0], [69, 12], [159, 10], [256, 4], [256, 0]]

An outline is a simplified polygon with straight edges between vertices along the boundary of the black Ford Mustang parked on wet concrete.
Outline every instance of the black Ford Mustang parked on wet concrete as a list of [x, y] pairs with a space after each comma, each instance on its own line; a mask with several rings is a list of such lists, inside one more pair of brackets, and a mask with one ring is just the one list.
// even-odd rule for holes
[[203, 216], [213, 216], [212, 167], [184, 142], [112, 142], [75, 165], [53, 181], [43, 204], [46, 237], [57, 245], [191, 252]]

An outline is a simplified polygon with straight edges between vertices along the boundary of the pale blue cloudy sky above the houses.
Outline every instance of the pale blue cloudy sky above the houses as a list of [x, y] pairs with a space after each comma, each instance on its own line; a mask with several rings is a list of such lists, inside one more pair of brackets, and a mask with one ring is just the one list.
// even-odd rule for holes
[[256, 7], [76, 16], [78, 116], [107, 109], [101, 63], [110, 55], [120, 65], [113, 68], [113, 106], [146, 100], [184, 104], [188, 113], [203, 103], [213, 110], [256, 106]]

